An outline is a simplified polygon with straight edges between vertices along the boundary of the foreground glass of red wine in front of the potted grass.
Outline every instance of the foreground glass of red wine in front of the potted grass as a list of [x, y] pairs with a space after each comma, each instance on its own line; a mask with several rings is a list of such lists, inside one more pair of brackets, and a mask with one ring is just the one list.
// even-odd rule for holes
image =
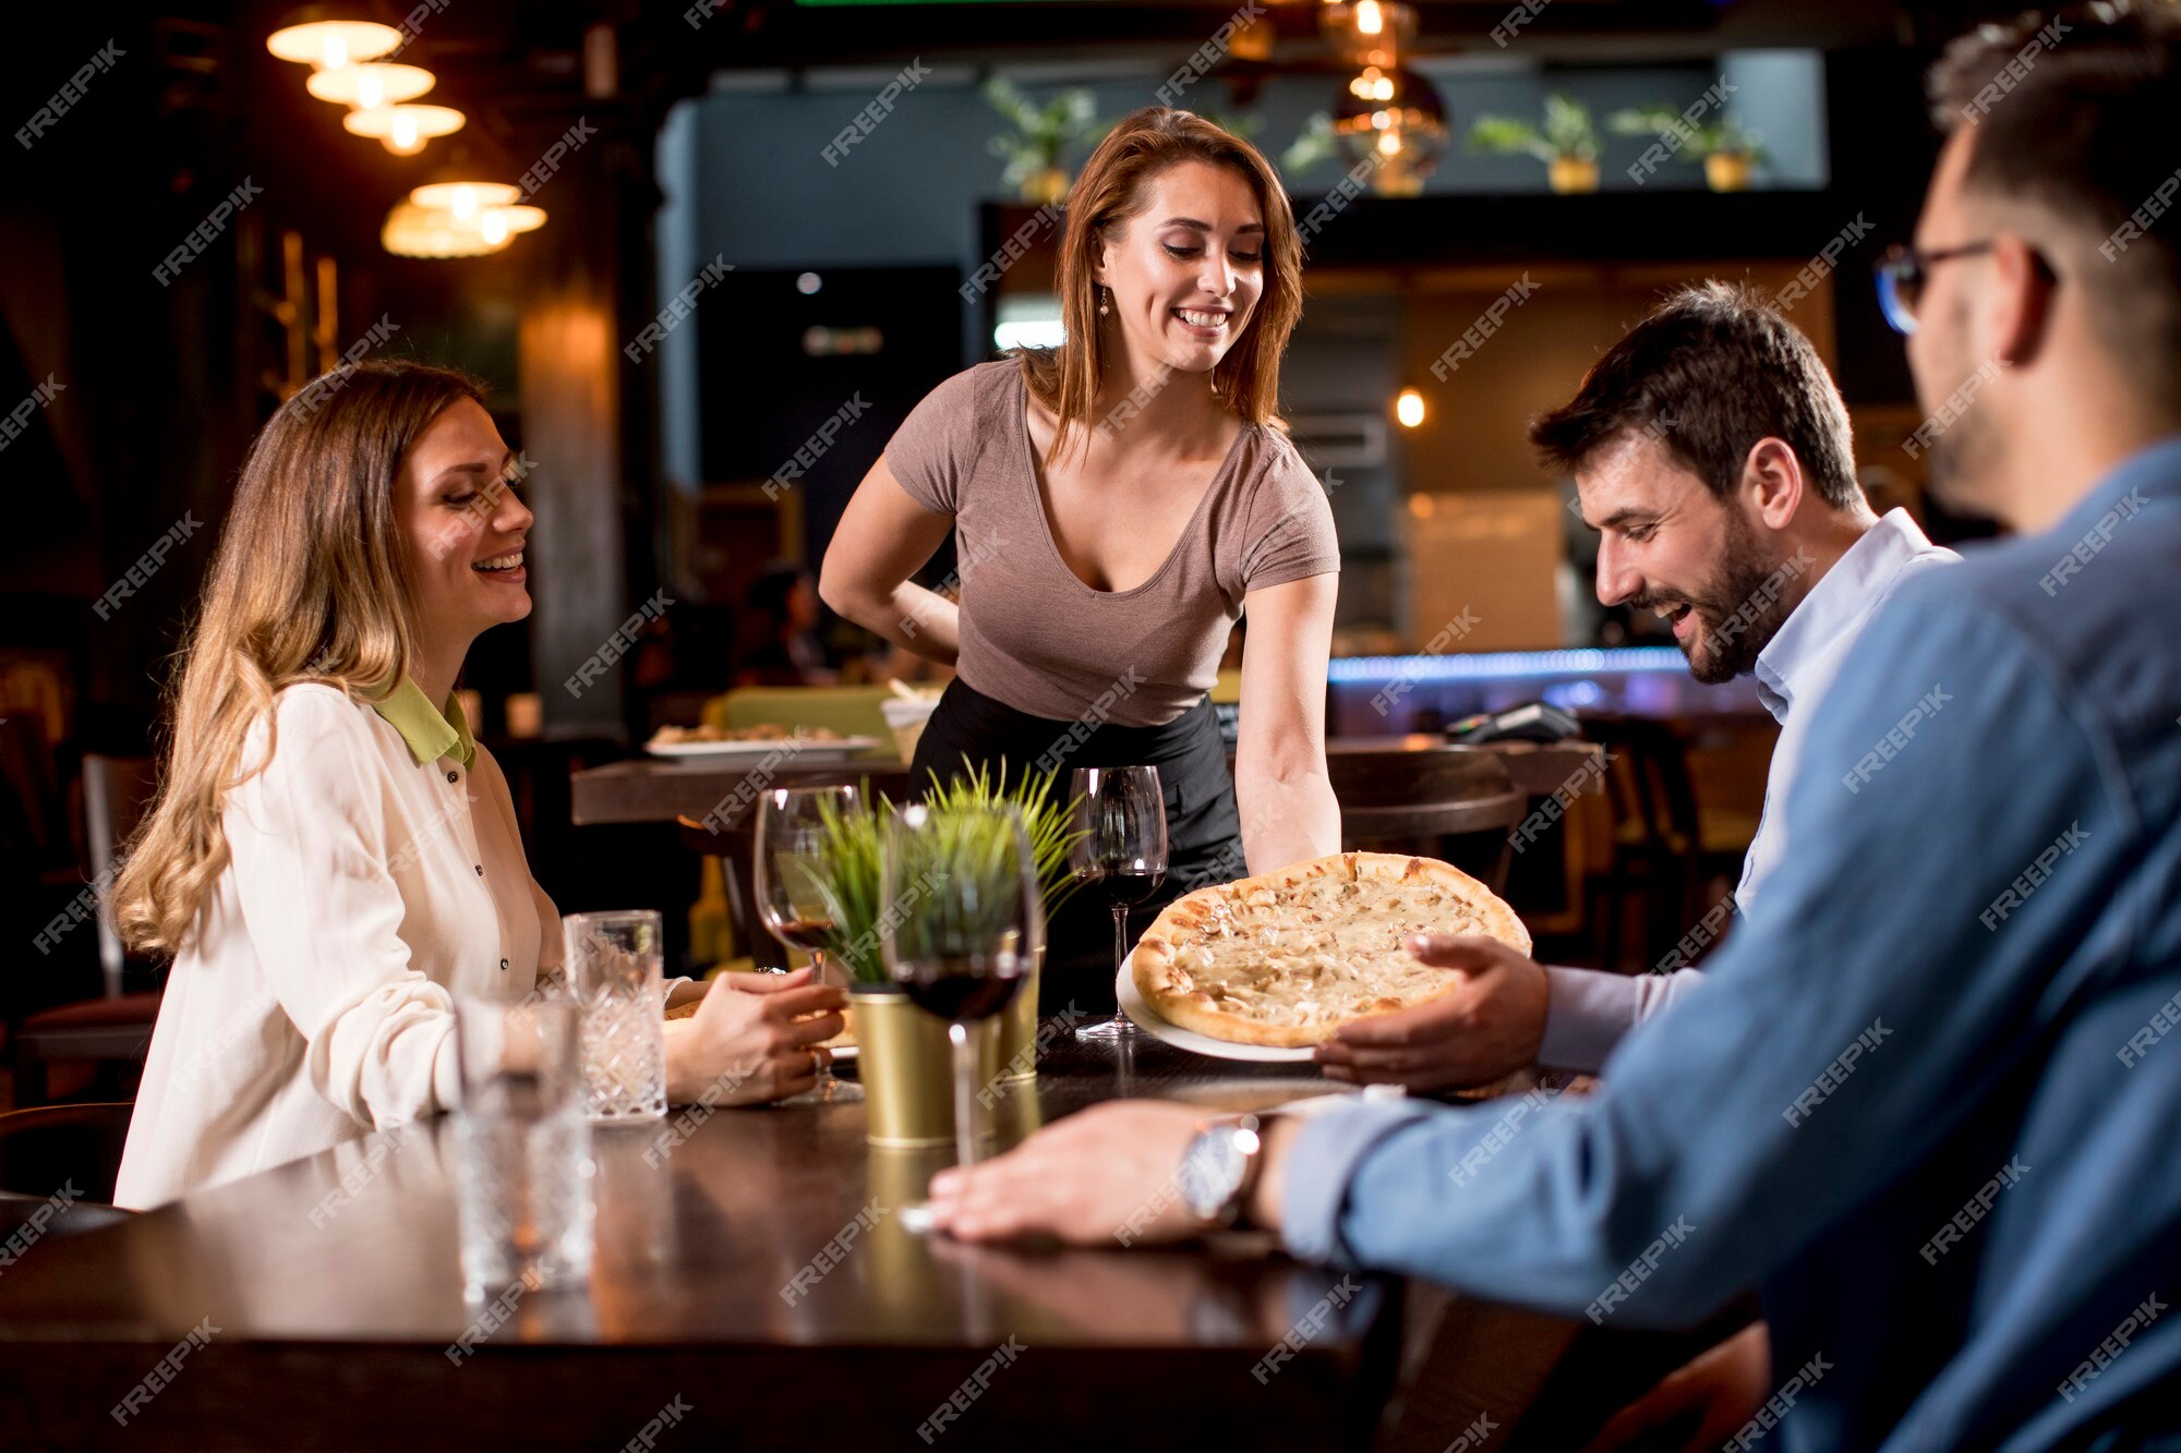
[[905, 807], [879, 836], [879, 951], [909, 1001], [947, 1021], [955, 1161], [977, 1163], [968, 1025], [1008, 1008], [1045, 945], [1029, 831], [1014, 807]]

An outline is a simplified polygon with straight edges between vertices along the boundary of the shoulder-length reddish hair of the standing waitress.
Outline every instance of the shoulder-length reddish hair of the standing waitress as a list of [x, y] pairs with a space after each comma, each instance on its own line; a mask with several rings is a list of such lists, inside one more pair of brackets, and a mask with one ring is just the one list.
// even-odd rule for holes
[[1272, 161], [1230, 131], [1193, 111], [1143, 107], [1123, 116], [1097, 144], [1069, 192], [1069, 227], [1060, 242], [1060, 319], [1067, 343], [1025, 349], [1023, 382], [1060, 423], [1047, 460], [1064, 458], [1069, 434], [1088, 439], [1106, 353], [1097, 329], [1097, 292], [1090, 281], [1097, 249], [1110, 229], [1149, 205], [1145, 185], [1182, 161], [1224, 166], [1250, 183], [1265, 218], [1265, 290], [1241, 338], [1213, 369], [1213, 391], [1245, 423], [1287, 428], [1280, 421], [1280, 356], [1302, 319], [1302, 236], [1296, 209]]

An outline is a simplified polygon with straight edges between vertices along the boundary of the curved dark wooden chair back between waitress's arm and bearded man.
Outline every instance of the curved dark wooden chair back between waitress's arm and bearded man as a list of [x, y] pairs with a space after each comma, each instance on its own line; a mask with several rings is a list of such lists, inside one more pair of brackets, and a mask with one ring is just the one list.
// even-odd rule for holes
[[[1507, 886], [1509, 833], [1529, 816], [1496, 753], [1477, 746], [1341, 750], [1326, 755], [1341, 805], [1341, 849], [1431, 851], [1483, 866], [1492, 892]], [[1455, 840], [1455, 842], [1448, 842]], [[1468, 842], [1463, 842], [1468, 840]]]

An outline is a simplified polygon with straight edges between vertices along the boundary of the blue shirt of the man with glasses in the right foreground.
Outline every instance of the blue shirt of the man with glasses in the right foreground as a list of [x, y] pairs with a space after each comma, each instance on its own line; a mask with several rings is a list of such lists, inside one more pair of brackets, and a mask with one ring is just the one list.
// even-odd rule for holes
[[2172, 1436], [2177, 622], [2181, 439], [1904, 583], [1703, 984], [1583, 1100], [1309, 1121], [1289, 1248], [1612, 1324], [1756, 1287], [1782, 1453]]

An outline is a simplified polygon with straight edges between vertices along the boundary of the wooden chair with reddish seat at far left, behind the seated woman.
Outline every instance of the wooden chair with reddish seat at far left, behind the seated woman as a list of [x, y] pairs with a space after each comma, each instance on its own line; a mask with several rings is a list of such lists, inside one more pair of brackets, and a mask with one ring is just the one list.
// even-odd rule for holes
[[[83, 759], [83, 812], [92, 881], [107, 881], [120, 860], [120, 846], [137, 829], [155, 792], [155, 768], [148, 757]], [[39, 1010], [15, 1030], [15, 1104], [37, 1106], [48, 1100], [48, 1067], [52, 1060], [92, 1060], [111, 1080], [144, 1060], [153, 1023], [159, 1019], [159, 990], [124, 993], [129, 953], [105, 903], [98, 908], [98, 960], [105, 995], [81, 1004]]]

